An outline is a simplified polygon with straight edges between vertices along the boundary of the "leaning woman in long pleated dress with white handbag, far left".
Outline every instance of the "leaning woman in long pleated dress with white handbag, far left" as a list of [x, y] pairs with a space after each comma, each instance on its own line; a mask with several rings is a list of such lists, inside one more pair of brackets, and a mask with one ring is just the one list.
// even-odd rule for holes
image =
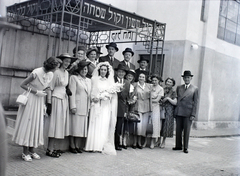
[[21, 83], [21, 88], [30, 93], [26, 105], [19, 106], [13, 141], [23, 146], [22, 159], [25, 161], [32, 161], [32, 158], [40, 159], [33, 148], [44, 143], [45, 90], [53, 78], [53, 71], [57, 65], [57, 60], [50, 57], [43, 63], [43, 67], [34, 69]]

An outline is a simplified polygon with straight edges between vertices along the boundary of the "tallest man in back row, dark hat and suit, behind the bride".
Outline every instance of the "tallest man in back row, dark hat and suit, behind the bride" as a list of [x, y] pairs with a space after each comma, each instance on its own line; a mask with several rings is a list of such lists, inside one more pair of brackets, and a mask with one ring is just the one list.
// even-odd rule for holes
[[118, 67], [120, 61], [114, 57], [114, 54], [118, 52], [117, 44], [111, 42], [109, 45], [106, 45], [108, 55], [100, 57], [99, 62], [109, 62], [113, 69]]

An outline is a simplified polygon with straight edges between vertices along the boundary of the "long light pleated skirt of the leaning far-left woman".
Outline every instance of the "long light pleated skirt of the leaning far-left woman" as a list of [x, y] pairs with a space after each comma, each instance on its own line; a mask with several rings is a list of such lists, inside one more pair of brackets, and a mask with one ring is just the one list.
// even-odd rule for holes
[[27, 104], [19, 106], [12, 138], [17, 144], [35, 148], [44, 144], [44, 101], [44, 97], [38, 97], [30, 93]]

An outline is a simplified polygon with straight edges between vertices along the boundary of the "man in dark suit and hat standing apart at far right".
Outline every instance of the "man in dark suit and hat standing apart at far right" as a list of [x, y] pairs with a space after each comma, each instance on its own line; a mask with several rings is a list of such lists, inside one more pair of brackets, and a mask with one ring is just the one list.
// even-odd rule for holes
[[[176, 144], [173, 150], [182, 150], [188, 153], [188, 141], [192, 120], [195, 119], [198, 105], [198, 88], [190, 84], [193, 75], [191, 71], [184, 71], [183, 81], [185, 84], [177, 87], [177, 106], [175, 108], [176, 117]], [[183, 133], [183, 146], [182, 146]]]

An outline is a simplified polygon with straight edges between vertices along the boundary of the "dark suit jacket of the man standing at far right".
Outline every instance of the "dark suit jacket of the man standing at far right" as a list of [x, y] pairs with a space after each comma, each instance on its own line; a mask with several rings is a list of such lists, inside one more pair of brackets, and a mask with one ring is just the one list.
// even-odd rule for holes
[[190, 117], [196, 116], [198, 105], [198, 88], [190, 84], [187, 90], [185, 85], [178, 86], [177, 93], [177, 106], [175, 108], [176, 116]]

